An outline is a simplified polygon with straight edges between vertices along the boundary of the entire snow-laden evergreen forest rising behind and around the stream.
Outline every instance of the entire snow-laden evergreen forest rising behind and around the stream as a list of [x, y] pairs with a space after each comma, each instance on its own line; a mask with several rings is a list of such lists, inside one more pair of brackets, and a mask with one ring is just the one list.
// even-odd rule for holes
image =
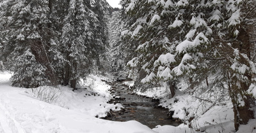
[[0, 0], [0, 71], [12, 73], [13, 87], [27, 89], [74, 91], [92, 75], [133, 81], [134, 92], [150, 92], [195, 132], [218, 108], [232, 112], [234, 132], [256, 125], [255, 0], [120, 4]]

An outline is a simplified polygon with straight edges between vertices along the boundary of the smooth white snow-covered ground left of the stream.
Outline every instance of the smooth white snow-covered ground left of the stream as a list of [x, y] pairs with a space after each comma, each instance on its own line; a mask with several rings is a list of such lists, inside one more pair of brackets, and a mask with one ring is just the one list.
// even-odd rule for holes
[[71, 88], [60, 87], [61, 96], [49, 104], [34, 97], [31, 89], [11, 87], [10, 76], [0, 73], [1, 133], [155, 132], [136, 121], [111, 122], [95, 118], [104, 116], [109, 109], [120, 108], [106, 103], [109, 87], [100, 80], [95, 79], [91, 85], [99, 95], [89, 95], [90, 88], [72, 92]]

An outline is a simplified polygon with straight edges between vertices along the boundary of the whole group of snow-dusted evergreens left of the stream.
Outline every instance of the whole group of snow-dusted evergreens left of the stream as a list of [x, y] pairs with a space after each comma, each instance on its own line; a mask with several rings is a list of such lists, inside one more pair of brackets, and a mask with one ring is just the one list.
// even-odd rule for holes
[[1, 0], [1, 67], [17, 87], [71, 85], [108, 45], [105, 0]]

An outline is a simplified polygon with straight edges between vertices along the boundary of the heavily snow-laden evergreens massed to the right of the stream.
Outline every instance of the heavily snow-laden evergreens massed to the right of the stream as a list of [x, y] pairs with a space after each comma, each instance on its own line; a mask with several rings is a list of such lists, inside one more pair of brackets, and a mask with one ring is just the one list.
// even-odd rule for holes
[[248, 90], [256, 74], [255, 1], [121, 3], [127, 29], [122, 40], [137, 87], [166, 82], [173, 97], [177, 83], [185, 80], [191, 95], [223, 92], [214, 95], [216, 101], [229, 95], [236, 130], [254, 117], [255, 98]]

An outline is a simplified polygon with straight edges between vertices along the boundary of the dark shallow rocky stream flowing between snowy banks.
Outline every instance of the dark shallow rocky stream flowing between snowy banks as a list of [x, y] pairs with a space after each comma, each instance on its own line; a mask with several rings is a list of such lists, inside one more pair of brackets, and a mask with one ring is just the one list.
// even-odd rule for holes
[[104, 119], [118, 122], [127, 122], [129, 120], [136, 120], [148, 127], [155, 128], [157, 125], [173, 125], [177, 126], [172, 120], [172, 116], [168, 116], [168, 109], [158, 106], [159, 101], [150, 97], [143, 97], [134, 94], [129, 87], [124, 85], [121, 81], [106, 82], [112, 87], [112, 95], [109, 103], [120, 103], [124, 106], [122, 111], [110, 111], [108, 116]]

